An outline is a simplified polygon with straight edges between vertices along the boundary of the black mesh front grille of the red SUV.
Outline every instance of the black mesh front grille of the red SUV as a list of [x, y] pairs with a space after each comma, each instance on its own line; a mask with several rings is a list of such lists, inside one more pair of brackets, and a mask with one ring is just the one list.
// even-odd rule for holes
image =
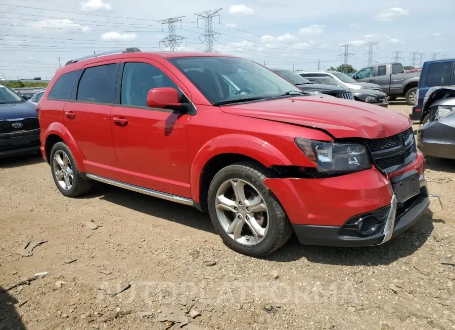
[[376, 166], [385, 173], [396, 171], [416, 158], [416, 141], [412, 127], [383, 139], [366, 140]]

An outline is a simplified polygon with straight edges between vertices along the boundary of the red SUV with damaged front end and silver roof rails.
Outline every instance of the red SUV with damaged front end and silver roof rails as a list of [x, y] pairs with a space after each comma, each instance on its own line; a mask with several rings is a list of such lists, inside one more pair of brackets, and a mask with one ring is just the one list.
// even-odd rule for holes
[[429, 205], [411, 122], [307, 93], [224, 54], [97, 54], [57, 70], [38, 105], [61, 193], [90, 181], [208, 211], [251, 256], [302, 244], [389, 241]]

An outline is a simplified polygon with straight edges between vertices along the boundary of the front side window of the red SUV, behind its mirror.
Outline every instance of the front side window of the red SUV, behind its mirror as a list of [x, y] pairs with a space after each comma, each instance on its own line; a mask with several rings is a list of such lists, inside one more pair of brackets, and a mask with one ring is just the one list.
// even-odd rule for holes
[[147, 94], [152, 88], [177, 85], [157, 67], [141, 62], [125, 63], [122, 77], [121, 104], [147, 106]]

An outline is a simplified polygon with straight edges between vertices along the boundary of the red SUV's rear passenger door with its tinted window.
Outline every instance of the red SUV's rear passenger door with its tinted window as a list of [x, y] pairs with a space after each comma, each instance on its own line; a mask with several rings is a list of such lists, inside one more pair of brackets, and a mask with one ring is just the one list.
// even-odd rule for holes
[[86, 65], [64, 108], [65, 126], [83, 154], [86, 171], [103, 177], [118, 166], [110, 114], [119, 67], [120, 59]]

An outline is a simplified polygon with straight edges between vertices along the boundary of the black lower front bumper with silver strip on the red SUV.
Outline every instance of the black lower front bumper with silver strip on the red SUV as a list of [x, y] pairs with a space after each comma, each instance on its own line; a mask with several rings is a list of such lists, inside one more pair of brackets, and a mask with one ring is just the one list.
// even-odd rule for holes
[[407, 208], [404, 211], [398, 211], [397, 199], [395, 194], [393, 194], [390, 205], [388, 205], [386, 208], [361, 215], [361, 217], [365, 218], [371, 214], [383, 212], [384, 209], [387, 210], [386, 221], [378, 234], [367, 237], [352, 237], [344, 235], [343, 228], [339, 226], [305, 225], [293, 225], [294, 232], [299, 242], [305, 245], [342, 247], [381, 245], [400, 235], [405, 230], [417, 223], [422, 213], [430, 204], [425, 176], [421, 175], [419, 181], [421, 186], [421, 193], [412, 201], [412, 207]]

